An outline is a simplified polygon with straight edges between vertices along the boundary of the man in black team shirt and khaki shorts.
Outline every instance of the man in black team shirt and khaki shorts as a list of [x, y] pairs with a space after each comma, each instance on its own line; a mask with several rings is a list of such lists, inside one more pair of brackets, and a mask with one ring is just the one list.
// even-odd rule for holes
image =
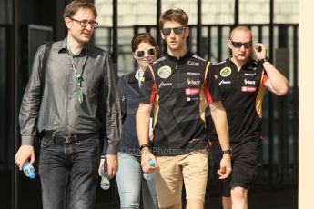
[[[224, 154], [220, 178], [231, 172], [228, 124], [220, 103], [218, 83], [208, 76], [210, 63], [187, 49], [188, 16], [181, 10], [167, 10], [160, 18], [161, 36], [167, 54], [148, 65], [137, 111], [137, 136], [144, 172], [156, 170], [157, 197], [161, 208], [181, 208], [183, 179], [187, 208], [203, 208], [208, 180], [208, 153], [205, 149], [205, 109], [210, 105], [218, 127]], [[154, 154], [148, 149], [148, 124], [154, 111]], [[154, 160], [150, 167], [148, 160]]]

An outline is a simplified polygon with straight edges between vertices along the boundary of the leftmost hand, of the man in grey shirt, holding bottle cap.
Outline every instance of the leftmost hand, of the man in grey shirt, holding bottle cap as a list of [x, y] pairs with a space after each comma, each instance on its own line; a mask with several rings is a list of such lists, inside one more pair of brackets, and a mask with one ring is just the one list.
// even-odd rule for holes
[[35, 162], [35, 153], [32, 145], [21, 145], [15, 154], [15, 164], [19, 167], [20, 171], [23, 169], [23, 165], [29, 161], [33, 164]]

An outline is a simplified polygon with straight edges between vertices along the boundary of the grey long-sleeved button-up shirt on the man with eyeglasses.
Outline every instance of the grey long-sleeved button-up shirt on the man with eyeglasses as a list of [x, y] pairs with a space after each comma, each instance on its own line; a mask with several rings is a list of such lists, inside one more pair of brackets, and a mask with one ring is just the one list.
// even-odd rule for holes
[[21, 105], [19, 124], [22, 144], [33, 144], [36, 129], [39, 133], [45, 131], [63, 135], [93, 133], [102, 127], [107, 140], [106, 153], [116, 154], [121, 114], [110, 55], [94, 45], [86, 45], [74, 56], [78, 71], [82, 70], [86, 60], [82, 76], [84, 100], [80, 104], [66, 39], [52, 45], [46, 64], [45, 87], [41, 86], [45, 48], [46, 45], [40, 46], [35, 55]]

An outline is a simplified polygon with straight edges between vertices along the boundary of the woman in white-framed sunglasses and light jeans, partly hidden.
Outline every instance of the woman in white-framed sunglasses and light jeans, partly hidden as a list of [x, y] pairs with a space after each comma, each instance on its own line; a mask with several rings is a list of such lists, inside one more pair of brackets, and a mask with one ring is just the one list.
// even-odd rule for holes
[[143, 178], [136, 131], [136, 113], [144, 72], [147, 65], [157, 59], [159, 47], [151, 35], [141, 33], [132, 38], [131, 48], [138, 67], [132, 73], [123, 75], [117, 84], [120, 101], [124, 98], [127, 104], [127, 115], [122, 124], [116, 182], [120, 195], [120, 208], [139, 208], [142, 188], [144, 208], [151, 209], [157, 208], [155, 177], [149, 181]]

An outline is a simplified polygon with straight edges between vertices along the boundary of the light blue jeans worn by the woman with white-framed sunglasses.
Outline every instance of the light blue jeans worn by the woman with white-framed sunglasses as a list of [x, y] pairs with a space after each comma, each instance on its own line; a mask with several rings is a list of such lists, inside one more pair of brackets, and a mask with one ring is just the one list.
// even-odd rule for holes
[[119, 169], [116, 182], [121, 208], [139, 208], [141, 188], [144, 208], [158, 208], [155, 175], [150, 181], [143, 178], [141, 157], [125, 153], [118, 153], [117, 156]]

